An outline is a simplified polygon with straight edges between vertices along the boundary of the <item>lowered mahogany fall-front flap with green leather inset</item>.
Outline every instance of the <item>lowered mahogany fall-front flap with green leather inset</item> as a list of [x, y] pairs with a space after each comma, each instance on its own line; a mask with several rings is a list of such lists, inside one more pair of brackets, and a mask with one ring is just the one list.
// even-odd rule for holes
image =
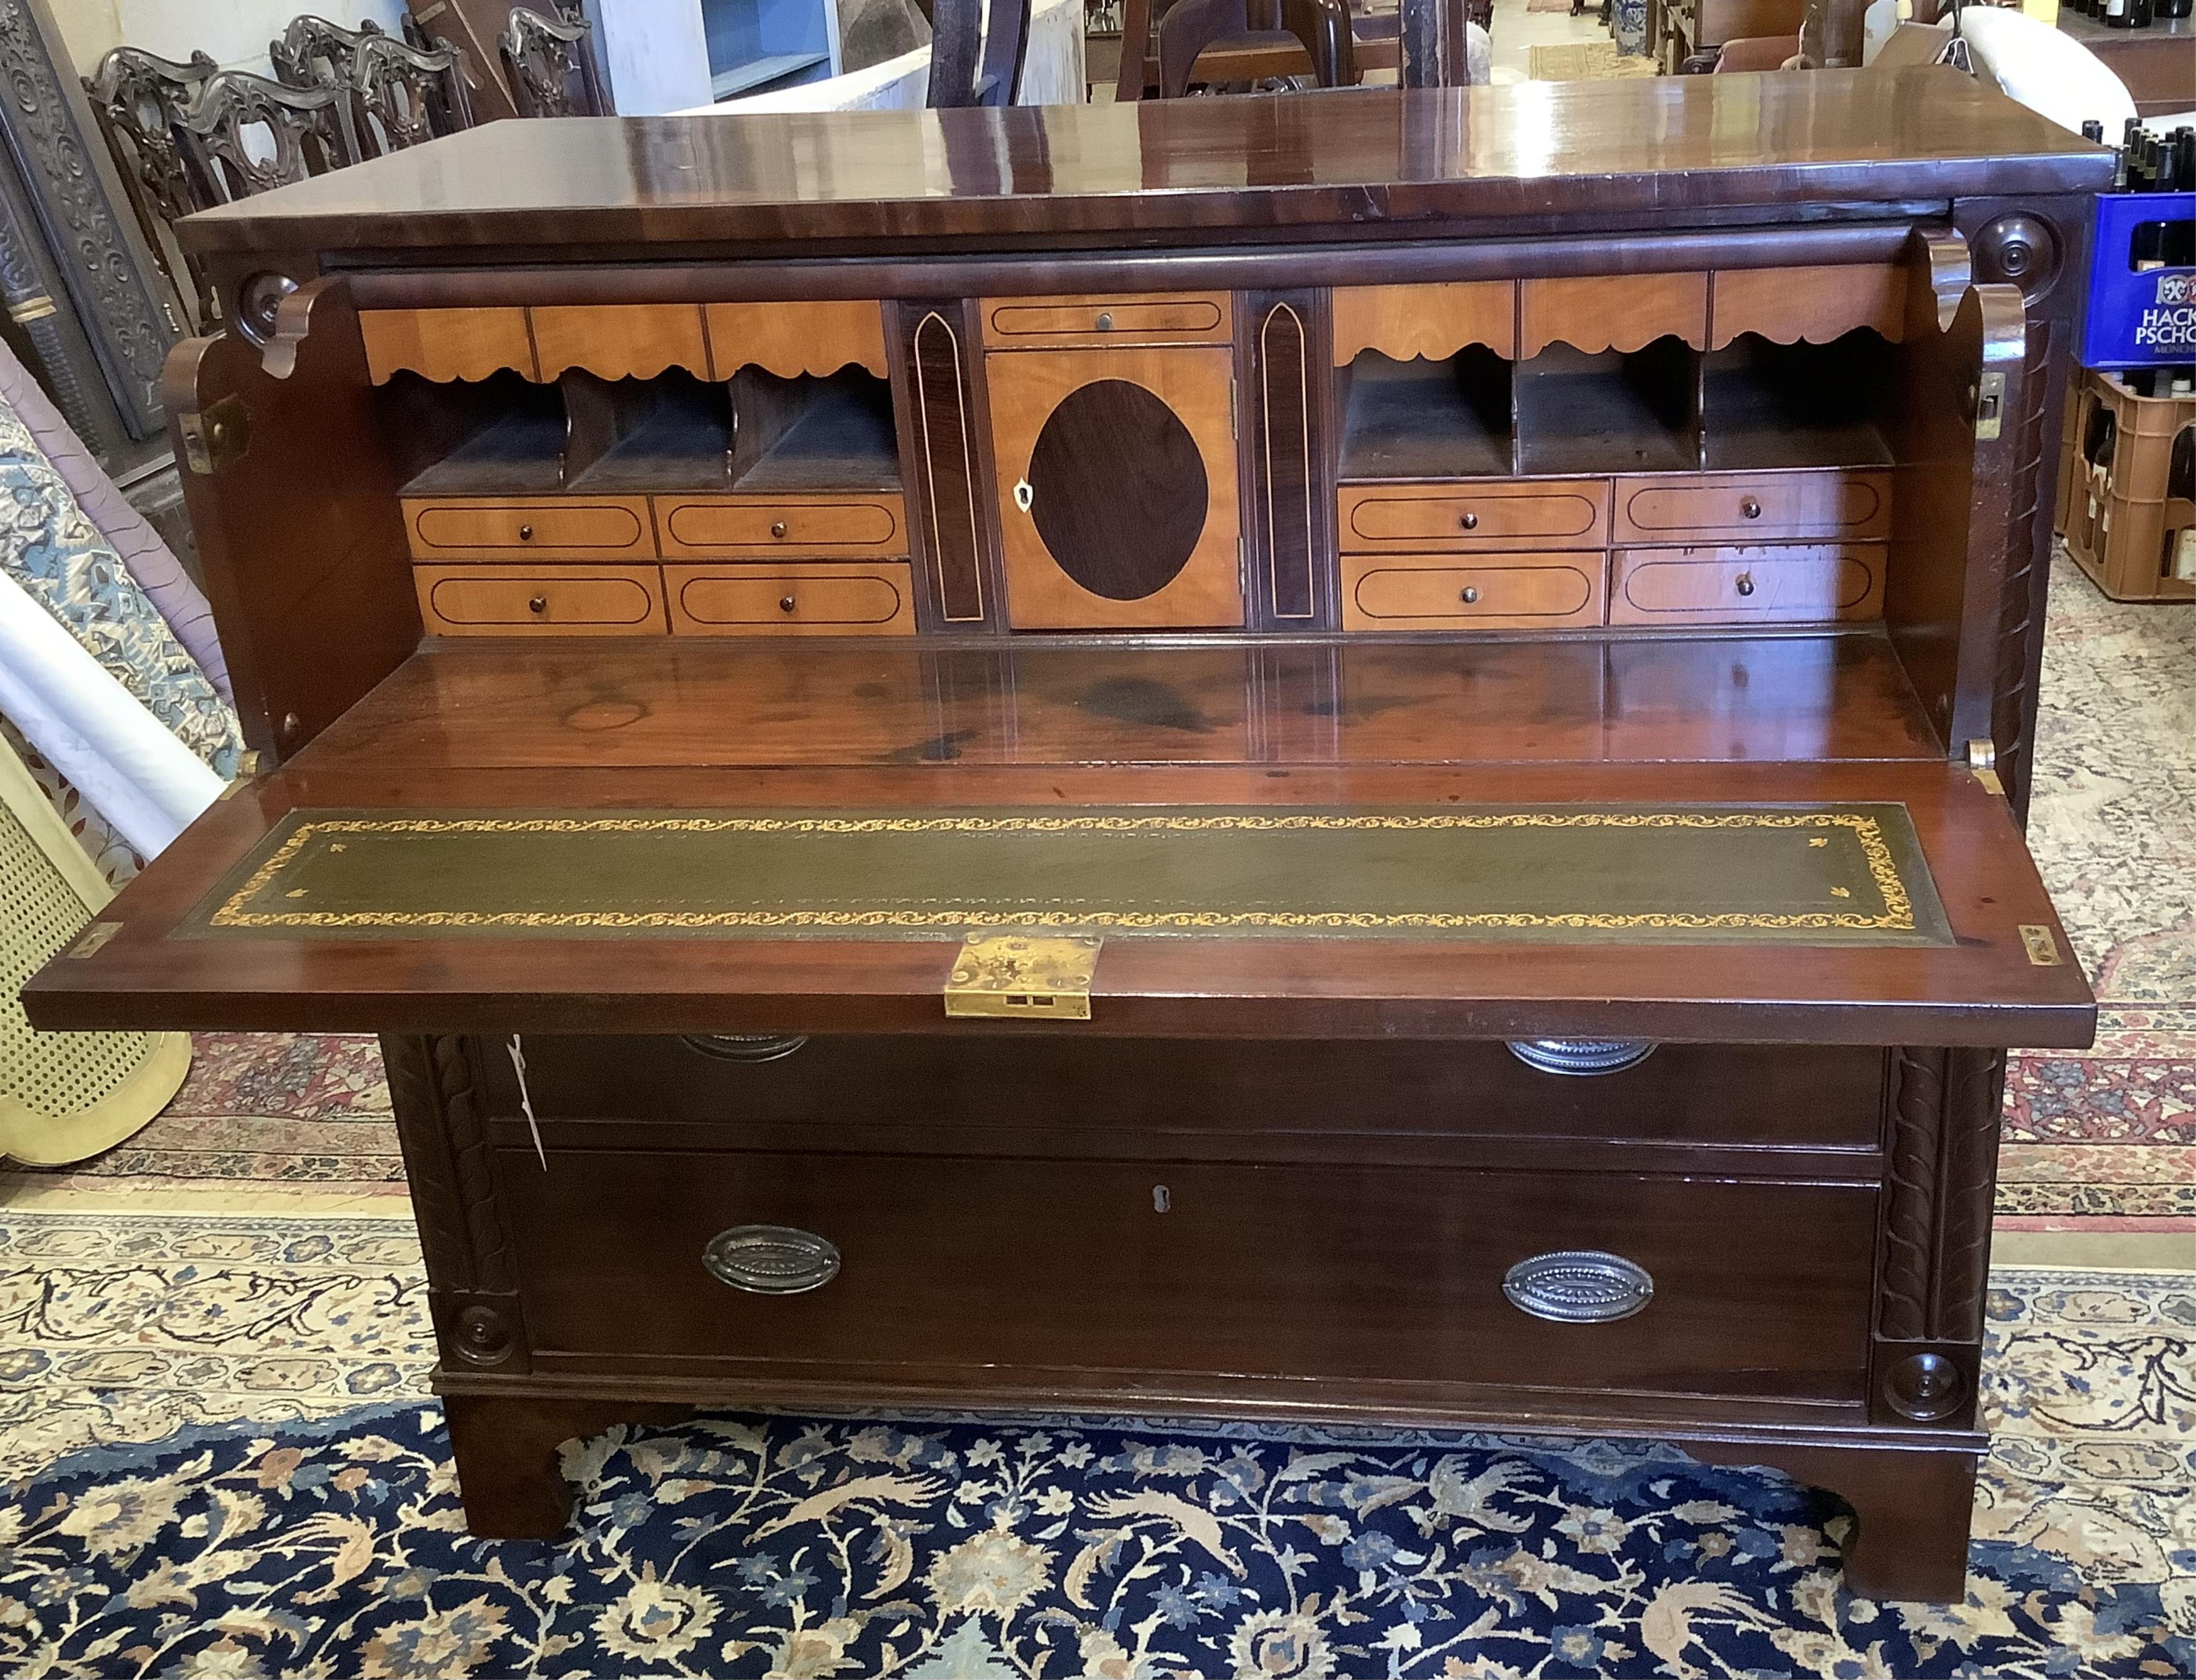
[[1089, 1030], [1120, 1034], [2086, 1043], [2012, 815], [1948, 775], [1917, 808], [358, 808], [264, 786], [26, 1006], [55, 1028], [940, 1030], [962, 942], [1028, 933], [1094, 942]]

